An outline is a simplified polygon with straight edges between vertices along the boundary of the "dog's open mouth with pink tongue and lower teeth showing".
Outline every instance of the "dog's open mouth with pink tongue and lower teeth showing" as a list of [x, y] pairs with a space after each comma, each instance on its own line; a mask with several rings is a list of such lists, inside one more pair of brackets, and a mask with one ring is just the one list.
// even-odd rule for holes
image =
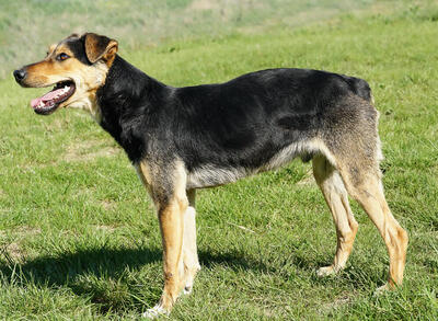
[[74, 82], [61, 81], [45, 95], [31, 101], [31, 106], [35, 113], [41, 115], [48, 115], [56, 111], [60, 103], [67, 101], [76, 90]]

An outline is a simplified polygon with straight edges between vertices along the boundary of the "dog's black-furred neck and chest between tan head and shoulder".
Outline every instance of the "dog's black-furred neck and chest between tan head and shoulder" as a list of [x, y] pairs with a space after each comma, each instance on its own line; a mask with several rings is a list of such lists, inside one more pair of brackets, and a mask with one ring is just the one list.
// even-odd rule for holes
[[105, 84], [97, 90], [100, 125], [125, 149], [132, 162], [145, 157], [148, 128], [154, 127], [172, 88], [147, 76], [119, 56], [111, 66]]

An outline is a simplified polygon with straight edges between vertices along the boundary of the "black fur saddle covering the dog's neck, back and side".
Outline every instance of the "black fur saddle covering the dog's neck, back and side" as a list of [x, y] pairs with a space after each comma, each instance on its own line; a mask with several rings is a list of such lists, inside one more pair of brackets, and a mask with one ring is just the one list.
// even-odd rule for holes
[[365, 80], [307, 69], [171, 88], [116, 56], [97, 101], [102, 127], [134, 163], [178, 157], [188, 171], [206, 164], [251, 170], [314, 137], [336, 102], [351, 94], [371, 96]]

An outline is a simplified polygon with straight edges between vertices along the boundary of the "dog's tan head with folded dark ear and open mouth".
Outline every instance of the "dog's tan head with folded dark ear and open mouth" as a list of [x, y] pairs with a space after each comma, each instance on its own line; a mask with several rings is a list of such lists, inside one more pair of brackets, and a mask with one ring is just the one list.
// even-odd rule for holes
[[106, 74], [117, 53], [117, 42], [87, 33], [72, 34], [49, 47], [42, 61], [13, 72], [22, 87], [54, 89], [31, 101], [35, 113], [48, 115], [58, 107], [80, 107], [96, 116], [96, 90], [105, 83]]

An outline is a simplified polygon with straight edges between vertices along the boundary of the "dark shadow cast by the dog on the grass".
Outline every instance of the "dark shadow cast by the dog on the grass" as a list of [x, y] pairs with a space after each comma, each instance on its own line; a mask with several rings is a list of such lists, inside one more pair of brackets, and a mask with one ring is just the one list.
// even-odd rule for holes
[[[289, 256], [290, 259], [292, 257]], [[89, 298], [95, 305], [97, 313], [124, 313], [132, 310], [141, 313], [147, 306], [153, 306], [161, 295], [162, 276], [161, 267], [158, 267], [161, 266], [161, 260], [162, 251], [158, 248], [79, 250], [74, 253], [37, 257], [23, 264], [0, 262], [0, 276], [7, 283], [23, 288], [30, 284], [42, 288], [68, 287], [77, 296]], [[209, 270], [226, 266], [235, 272], [285, 274], [284, 271], [239, 251], [199, 251], [199, 260]], [[143, 270], [150, 264], [154, 265], [153, 272]], [[298, 255], [292, 259], [292, 265], [310, 271], [314, 262]], [[314, 278], [311, 282], [315, 285], [320, 283]], [[139, 287], [139, 283], [143, 285]]]

